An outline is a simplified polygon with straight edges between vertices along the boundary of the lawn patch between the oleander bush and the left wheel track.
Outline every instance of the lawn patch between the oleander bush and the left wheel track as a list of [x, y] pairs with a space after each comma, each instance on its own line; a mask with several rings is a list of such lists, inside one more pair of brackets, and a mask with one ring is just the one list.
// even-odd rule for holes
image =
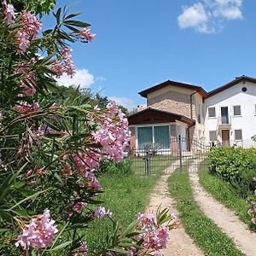
[[[137, 170], [134, 170], [137, 172]], [[104, 193], [98, 199], [104, 201], [103, 206], [113, 212], [113, 219], [126, 227], [137, 218], [138, 212], [144, 212], [149, 203], [150, 194], [160, 176], [123, 176], [105, 173], [100, 177]], [[96, 220], [86, 229], [85, 240], [90, 252], [105, 245], [107, 230], [113, 224], [108, 218]]]

